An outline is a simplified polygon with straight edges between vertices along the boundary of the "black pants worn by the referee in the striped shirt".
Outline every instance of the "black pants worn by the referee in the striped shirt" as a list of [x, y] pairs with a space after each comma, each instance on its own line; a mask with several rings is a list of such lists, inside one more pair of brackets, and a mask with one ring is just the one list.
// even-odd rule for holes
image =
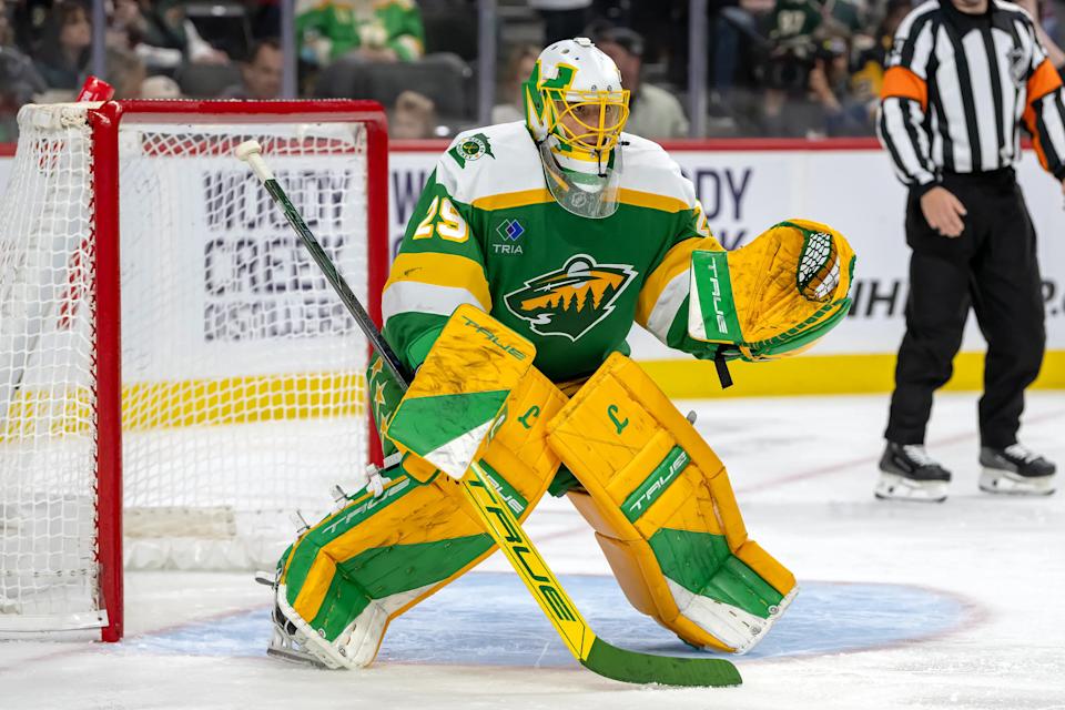
[[965, 231], [942, 236], [925, 221], [920, 199], [910, 196], [906, 334], [884, 436], [924, 443], [932, 394], [951, 378], [972, 307], [987, 341], [981, 444], [1005, 448], [1017, 440], [1024, 390], [1039, 373], [1046, 344], [1035, 230], [1011, 169], [950, 174], [943, 186], [968, 211]]

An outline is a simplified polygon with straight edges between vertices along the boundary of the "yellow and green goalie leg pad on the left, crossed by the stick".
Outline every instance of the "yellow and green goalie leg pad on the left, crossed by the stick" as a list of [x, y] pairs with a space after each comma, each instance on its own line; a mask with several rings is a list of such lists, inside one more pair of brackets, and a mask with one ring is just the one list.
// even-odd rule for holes
[[[530, 369], [510, 390], [510, 414], [480, 453], [519, 519], [558, 468], [546, 429], [565, 402]], [[495, 549], [457, 483], [427, 475], [426, 466], [408, 455], [379, 498], [356, 497], [301, 536], [280, 562], [277, 612], [293, 640], [328, 668], [369, 665], [392, 619]]]

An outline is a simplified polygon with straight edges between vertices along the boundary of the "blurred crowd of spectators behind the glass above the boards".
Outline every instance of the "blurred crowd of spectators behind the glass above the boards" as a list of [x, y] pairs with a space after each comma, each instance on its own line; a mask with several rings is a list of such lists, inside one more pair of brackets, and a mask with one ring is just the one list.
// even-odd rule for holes
[[[1065, 0], [1018, 0], [1063, 44]], [[23, 103], [72, 100], [88, 74], [82, 0], [0, 0], [0, 142]], [[872, 135], [886, 53], [911, 0], [711, 0], [710, 136]], [[588, 36], [631, 90], [630, 132], [686, 138], [687, 0], [500, 0], [494, 122], [523, 116], [540, 49]], [[476, 0], [298, 0], [298, 91], [376, 99], [398, 139], [477, 124]], [[110, 0], [115, 98], [273, 99], [282, 88], [277, 0]], [[1063, 58], [1053, 55], [1061, 65]]]

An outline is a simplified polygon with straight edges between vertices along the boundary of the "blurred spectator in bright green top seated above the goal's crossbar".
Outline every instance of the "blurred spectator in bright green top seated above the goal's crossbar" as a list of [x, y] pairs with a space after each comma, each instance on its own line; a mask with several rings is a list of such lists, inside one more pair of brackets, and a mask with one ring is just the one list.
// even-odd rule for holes
[[413, 0], [298, 0], [301, 59], [324, 67], [356, 54], [367, 62], [415, 61], [425, 51], [422, 12]]

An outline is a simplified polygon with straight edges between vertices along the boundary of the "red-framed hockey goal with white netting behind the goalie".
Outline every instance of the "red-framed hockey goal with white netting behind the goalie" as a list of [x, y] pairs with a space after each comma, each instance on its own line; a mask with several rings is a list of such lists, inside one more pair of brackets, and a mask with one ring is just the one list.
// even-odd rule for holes
[[[122, 636], [122, 562], [272, 568], [368, 459], [368, 346], [233, 150], [255, 139], [379, 323], [364, 101], [26, 106], [0, 203], [0, 632]], [[121, 236], [121, 239], [120, 239]], [[123, 551], [124, 528], [124, 551]]]

